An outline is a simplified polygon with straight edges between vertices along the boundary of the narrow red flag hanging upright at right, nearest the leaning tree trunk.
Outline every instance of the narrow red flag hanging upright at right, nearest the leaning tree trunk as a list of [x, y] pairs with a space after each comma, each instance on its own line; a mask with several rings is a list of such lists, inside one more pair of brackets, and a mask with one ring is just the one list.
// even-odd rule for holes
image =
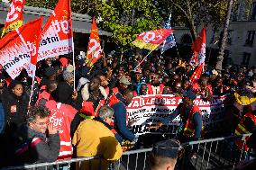
[[[191, 61], [194, 60], [194, 62], [198, 62], [199, 65], [204, 63], [206, 60], [206, 28], [202, 29], [199, 36], [197, 37], [197, 40], [195, 40], [195, 42], [193, 43], [192, 49], [194, 52], [194, 56]], [[199, 55], [198, 59], [197, 53]]]

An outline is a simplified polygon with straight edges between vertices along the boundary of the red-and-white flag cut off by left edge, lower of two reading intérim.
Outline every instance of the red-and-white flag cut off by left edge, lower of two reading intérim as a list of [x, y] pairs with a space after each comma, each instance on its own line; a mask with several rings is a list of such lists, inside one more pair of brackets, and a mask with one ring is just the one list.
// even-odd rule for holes
[[38, 55], [41, 22], [42, 17], [28, 22], [0, 40], [0, 64], [13, 79], [23, 68], [32, 76], [30, 63], [34, 64]]

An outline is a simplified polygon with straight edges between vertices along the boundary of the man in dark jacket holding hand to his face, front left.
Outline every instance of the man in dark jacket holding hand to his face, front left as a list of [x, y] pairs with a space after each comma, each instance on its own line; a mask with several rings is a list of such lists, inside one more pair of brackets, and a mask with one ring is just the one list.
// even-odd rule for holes
[[[23, 124], [14, 134], [15, 165], [54, 162], [59, 156], [59, 133], [50, 122], [50, 111], [34, 106]], [[13, 161], [12, 161], [13, 162]], [[12, 165], [14, 166], [14, 165]]]

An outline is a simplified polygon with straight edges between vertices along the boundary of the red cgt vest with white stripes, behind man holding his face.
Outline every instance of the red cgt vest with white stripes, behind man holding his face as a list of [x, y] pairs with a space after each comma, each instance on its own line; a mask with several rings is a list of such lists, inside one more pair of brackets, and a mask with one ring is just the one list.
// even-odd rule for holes
[[72, 157], [72, 144], [70, 138], [70, 125], [78, 112], [69, 104], [56, 103], [51, 100], [45, 104], [50, 110], [50, 122], [59, 131], [60, 150], [58, 159]]

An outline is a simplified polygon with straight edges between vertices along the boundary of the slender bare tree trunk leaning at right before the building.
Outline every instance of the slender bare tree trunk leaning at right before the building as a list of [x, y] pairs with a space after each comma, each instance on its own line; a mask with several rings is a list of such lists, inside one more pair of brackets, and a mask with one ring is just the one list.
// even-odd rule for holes
[[229, 27], [230, 14], [231, 14], [231, 10], [232, 10], [232, 4], [233, 4], [233, 0], [229, 0], [228, 10], [227, 10], [227, 14], [226, 14], [225, 22], [224, 22], [223, 37], [221, 40], [221, 45], [220, 45], [218, 56], [216, 58], [215, 69], [217, 71], [221, 71], [223, 68], [224, 49], [226, 47], [226, 40], [227, 40], [227, 33], [228, 33], [228, 27]]

